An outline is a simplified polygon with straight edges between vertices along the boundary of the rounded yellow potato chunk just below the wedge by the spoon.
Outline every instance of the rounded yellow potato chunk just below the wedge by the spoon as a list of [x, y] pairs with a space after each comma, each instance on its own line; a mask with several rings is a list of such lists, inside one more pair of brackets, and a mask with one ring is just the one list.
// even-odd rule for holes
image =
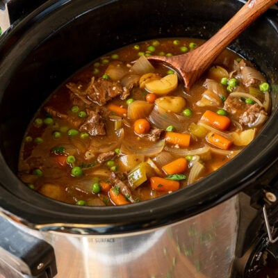
[[159, 97], [156, 99], [155, 104], [158, 108], [162, 108], [165, 111], [180, 113], [186, 106], [186, 99], [184, 97]]

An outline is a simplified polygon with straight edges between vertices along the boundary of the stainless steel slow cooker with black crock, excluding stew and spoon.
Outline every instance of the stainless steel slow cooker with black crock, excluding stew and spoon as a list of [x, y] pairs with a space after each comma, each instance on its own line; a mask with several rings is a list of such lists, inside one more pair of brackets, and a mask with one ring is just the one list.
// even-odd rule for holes
[[[252, 0], [254, 1], [254, 0]], [[23, 2], [23, 1], [22, 1]], [[56, 202], [17, 178], [28, 122], [91, 60], [154, 38], [210, 38], [240, 0], [0, 1], [0, 277], [254, 277], [278, 261], [278, 10], [229, 46], [271, 85], [272, 114], [230, 163], [192, 186], [117, 207]]]

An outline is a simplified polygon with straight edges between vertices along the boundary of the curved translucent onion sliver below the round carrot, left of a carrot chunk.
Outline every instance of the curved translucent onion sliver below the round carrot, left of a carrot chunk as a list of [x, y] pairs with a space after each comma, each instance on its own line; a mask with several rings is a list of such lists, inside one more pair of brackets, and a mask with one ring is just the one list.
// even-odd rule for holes
[[162, 152], [165, 140], [160, 140], [148, 147], [135, 147], [133, 142], [124, 141], [120, 147], [122, 154], [145, 154], [145, 156], [153, 157]]

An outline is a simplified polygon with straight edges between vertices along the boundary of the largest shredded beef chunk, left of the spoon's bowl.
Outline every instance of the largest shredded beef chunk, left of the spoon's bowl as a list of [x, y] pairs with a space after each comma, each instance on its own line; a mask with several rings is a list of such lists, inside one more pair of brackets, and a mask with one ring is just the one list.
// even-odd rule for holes
[[88, 98], [91, 101], [101, 106], [106, 104], [107, 101], [113, 99], [114, 97], [126, 97], [129, 95], [128, 90], [123, 88], [120, 82], [103, 78], [97, 79], [97, 81], [91, 83], [85, 92], [88, 94]]

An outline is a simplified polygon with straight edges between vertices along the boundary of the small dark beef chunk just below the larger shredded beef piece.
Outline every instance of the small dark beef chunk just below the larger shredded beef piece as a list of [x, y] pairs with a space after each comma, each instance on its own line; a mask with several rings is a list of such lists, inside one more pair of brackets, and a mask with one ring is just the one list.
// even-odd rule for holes
[[79, 127], [79, 131], [88, 132], [91, 136], [106, 135], [106, 127], [103, 117], [99, 110], [92, 111], [87, 109], [88, 117]]

